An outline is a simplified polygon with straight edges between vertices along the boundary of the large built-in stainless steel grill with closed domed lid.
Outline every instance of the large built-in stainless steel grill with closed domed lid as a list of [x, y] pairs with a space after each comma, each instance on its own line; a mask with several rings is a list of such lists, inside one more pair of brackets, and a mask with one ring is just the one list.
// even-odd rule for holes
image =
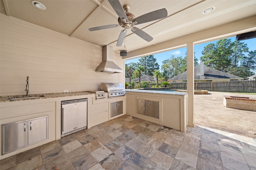
[[100, 90], [108, 92], [108, 98], [125, 95], [122, 83], [100, 83]]

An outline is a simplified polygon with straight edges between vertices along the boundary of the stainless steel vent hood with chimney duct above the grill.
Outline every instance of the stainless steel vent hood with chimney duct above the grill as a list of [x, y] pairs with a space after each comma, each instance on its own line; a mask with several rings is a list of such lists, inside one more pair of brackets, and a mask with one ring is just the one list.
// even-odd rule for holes
[[113, 47], [102, 47], [102, 63], [96, 68], [98, 72], [119, 73], [123, 70], [113, 62]]

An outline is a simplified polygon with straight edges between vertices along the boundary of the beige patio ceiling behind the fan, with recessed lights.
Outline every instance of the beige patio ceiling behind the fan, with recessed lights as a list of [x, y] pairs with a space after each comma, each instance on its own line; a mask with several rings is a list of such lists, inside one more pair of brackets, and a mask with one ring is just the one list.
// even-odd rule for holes
[[[0, 12], [96, 45], [111, 45], [114, 51], [135, 51], [152, 45], [256, 15], [256, 0], [120, 0], [130, 5], [135, 17], [166, 8], [166, 18], [142, 23], [154, 39], [150, 42], [128, 29], [125, 43], [116, 47], [122, 27], [89, 31], [88, 28], [118, 24], [118, 15], [108, 0], [38, 0], [46, 10], [35, 8], [31, 0], [0, 0]], [[209, 7], [215, 10], [202, 12]], [[254, 25], [255, 26], [255, 25]]]

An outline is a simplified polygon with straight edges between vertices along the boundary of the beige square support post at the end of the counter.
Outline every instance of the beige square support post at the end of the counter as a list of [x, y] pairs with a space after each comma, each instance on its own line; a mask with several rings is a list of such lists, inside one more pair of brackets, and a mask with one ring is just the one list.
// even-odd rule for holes
[[194, 43], [187, 44], [188, 125], [194, 127]]

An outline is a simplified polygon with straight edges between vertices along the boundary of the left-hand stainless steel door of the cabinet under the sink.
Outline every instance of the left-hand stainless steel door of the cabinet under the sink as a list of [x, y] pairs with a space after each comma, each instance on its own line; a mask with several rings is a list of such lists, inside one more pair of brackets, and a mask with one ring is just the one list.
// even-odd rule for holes
[[28, 145], [28, 121], [5, 124], [2, 126], [2, 131], [3, 154]]

